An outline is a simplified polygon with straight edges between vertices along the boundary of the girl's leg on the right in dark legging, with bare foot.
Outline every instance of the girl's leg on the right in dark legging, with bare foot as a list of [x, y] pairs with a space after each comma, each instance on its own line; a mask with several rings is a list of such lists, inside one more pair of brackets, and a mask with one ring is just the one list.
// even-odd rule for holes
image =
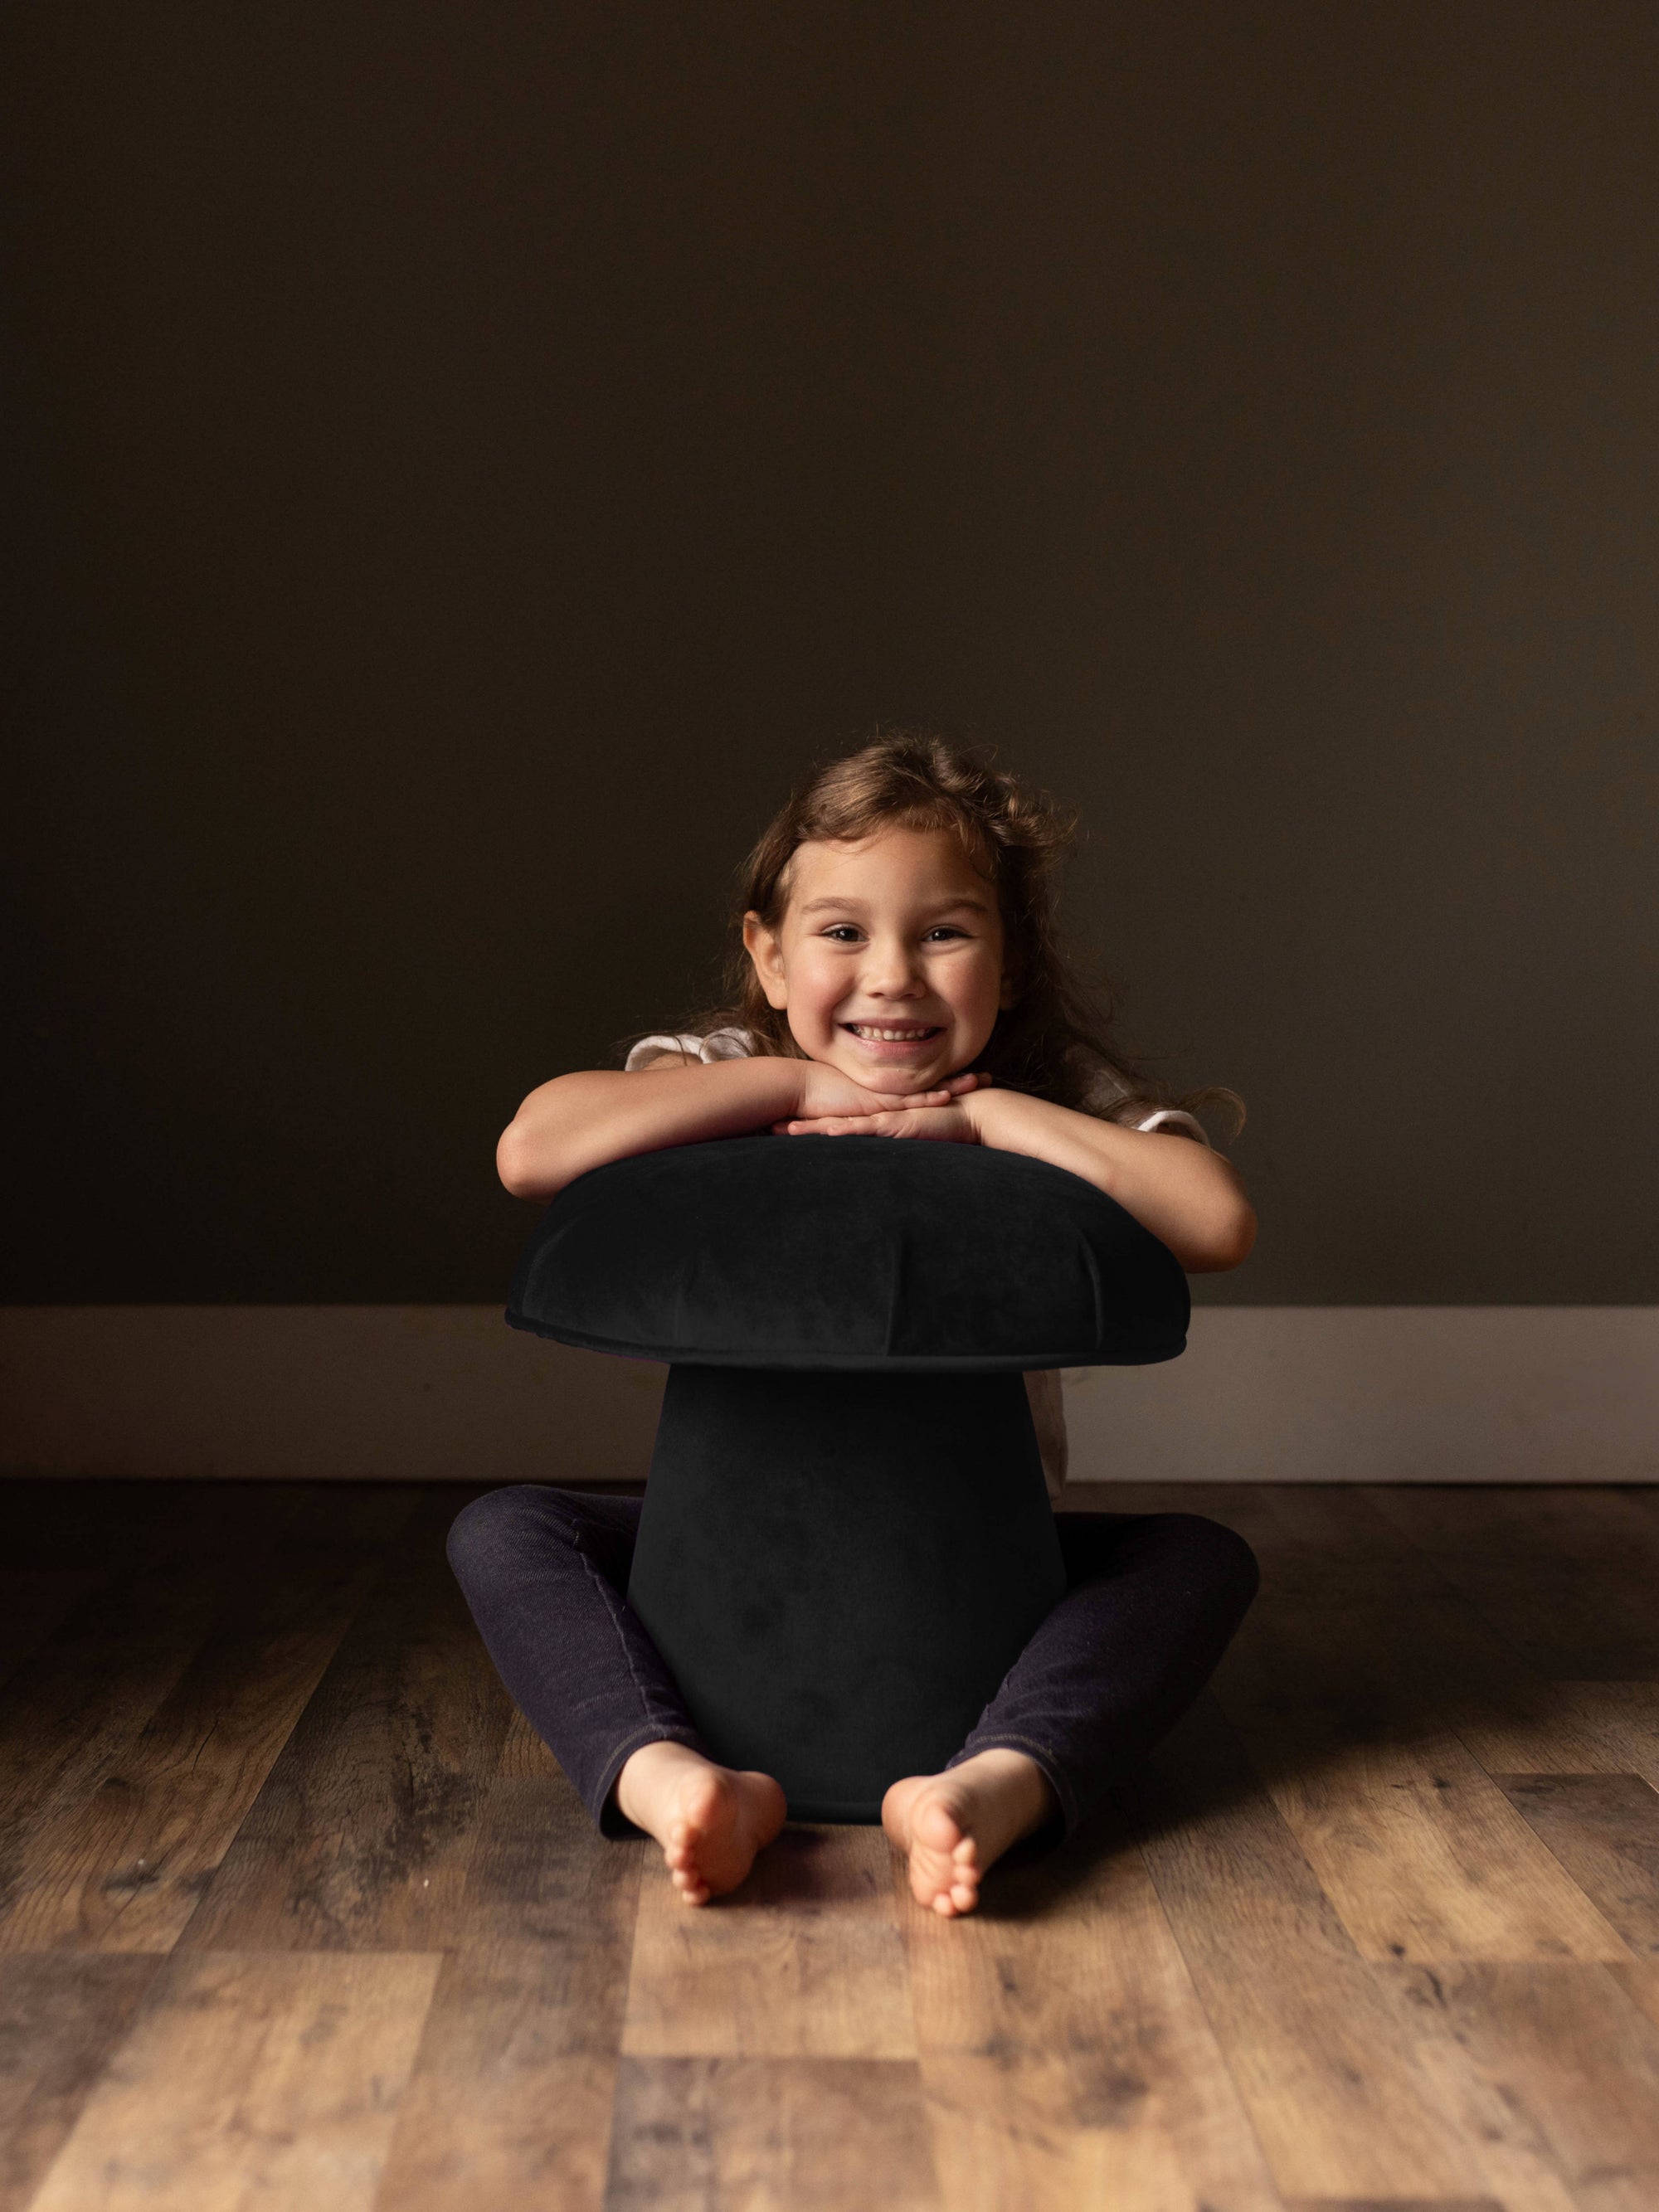
[[883, 1805], [911, 1887], [969, 1911], [1011, 1843], [1071, 1834], [1217, 1668], [1256, 1595], [1250, 1546], [1194, 1513], [1057, 1513], [1066, 1595], [1015, 1659], [945, 1774]]

